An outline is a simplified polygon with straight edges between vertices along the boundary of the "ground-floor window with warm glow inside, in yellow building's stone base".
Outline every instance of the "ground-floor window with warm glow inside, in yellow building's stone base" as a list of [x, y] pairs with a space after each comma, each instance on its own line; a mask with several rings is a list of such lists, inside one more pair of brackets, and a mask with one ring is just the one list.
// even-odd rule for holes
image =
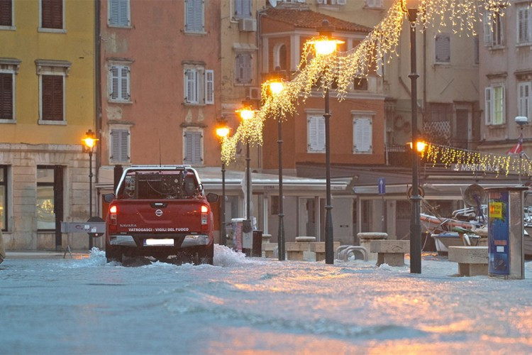
[[38, 165], [37, 199], [35, 203], [38, 230], [55, 230], [54, 201], [54, 168]]

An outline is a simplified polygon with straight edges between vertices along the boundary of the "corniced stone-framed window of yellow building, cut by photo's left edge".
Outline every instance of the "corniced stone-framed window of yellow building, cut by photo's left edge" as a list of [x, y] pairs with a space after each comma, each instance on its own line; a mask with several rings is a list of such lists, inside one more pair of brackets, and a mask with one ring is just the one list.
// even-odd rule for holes
[[21, 61], [0, 58], [0, 122], [15, 122], [15, 75]]

